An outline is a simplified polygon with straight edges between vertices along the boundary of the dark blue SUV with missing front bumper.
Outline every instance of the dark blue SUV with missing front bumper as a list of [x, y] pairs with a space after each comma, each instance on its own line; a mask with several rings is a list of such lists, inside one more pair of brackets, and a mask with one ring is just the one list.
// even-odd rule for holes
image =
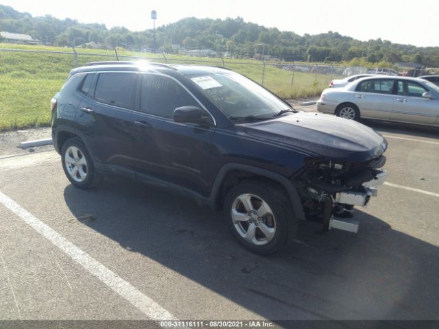
[[71, 184], [117, 174], [222, 208], [259, 254], [285, 247], [299, 220], [356, 232], [353, 206], [386, 175], [387, 143], [374, 130], [296, 112], [224, 68], [94, 63], [71, 71], [51, 108]]

